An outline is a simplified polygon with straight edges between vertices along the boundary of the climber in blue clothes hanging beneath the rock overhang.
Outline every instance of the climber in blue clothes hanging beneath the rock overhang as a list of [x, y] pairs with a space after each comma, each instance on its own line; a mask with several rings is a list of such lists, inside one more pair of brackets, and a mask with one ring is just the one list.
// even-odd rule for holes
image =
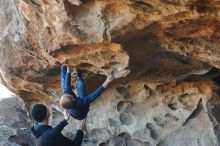
[[106, 81], [96, 89], [95, 92], [87, 96], [85, 85], [79, 70], [77, 70], [77, 83], [76, 88], [79, 94], [77, 97], [71, 87], [71, 73], [69, 67], [66, 65], [61, 66], [61, 86], [63, 96], [60, 99], [60, 106], [70, 113], [70, 115], [77, 119], [85, 119], [88, 112], [90, 103], [92, 103], [101, 93], [104, 92], [106, 86], [113, 80], [113, 76], [109, 75]]

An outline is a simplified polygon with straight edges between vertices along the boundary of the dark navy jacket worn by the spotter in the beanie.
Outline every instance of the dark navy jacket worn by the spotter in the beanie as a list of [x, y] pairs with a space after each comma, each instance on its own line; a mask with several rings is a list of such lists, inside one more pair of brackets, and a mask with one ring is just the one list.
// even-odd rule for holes
[[55, 128], [35, 124], [31, 131], [36, 138], [36, 146], [80, 146], [84, 136], [81, 130], [76, 132], [74, 140], [66, 138], [61, 133], [67, 124], [66, 120], [61, 121]]

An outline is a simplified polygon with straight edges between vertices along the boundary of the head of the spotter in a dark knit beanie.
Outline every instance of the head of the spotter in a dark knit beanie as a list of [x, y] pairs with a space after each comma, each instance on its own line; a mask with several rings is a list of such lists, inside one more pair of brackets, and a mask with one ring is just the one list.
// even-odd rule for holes
[[31, 117], [33, 120], [41, 123], [42, 121], [49, 119], [50, 112], [45, 105], [35, 104], [31, 109]]

